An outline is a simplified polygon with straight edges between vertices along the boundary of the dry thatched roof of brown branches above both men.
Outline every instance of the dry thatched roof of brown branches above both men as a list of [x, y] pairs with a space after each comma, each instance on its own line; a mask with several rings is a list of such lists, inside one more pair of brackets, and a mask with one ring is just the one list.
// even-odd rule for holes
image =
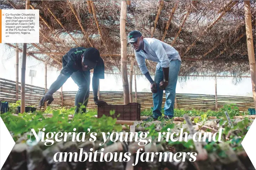
[[[255, 37], [256, 3], [250, 3]], [[121, 66], [120, 1], [93, 1], [93, 5], [90, 1], [30, 1], [30, 4], [40, 10], [41, 30], [40, 44], [28, 44], [31, 55], [61, 69], [61, 58], [70, 48], [94, 46], [105, 61], [106, 73], [120, 73], [116, 68]], [[240, 77], [250, 73], [244, 1], [164, 1], [162, 5], [153, 38], [178, 50], [182, 57], [180, 75]], [[144, 37], [151, 37], [160, 6], [160, 1], [131, 1], [127, 5], [126, 35], [136, 29]], [[1, 1], [2, 9], [14, 7], [25, 9], [25, 1]], [[134, 56], [130, 45], [127, 53], [130, 64]], [[156, 63], [146, 63], [153, 74]], [[136, 61], [135, 73], [141, 74]]]

